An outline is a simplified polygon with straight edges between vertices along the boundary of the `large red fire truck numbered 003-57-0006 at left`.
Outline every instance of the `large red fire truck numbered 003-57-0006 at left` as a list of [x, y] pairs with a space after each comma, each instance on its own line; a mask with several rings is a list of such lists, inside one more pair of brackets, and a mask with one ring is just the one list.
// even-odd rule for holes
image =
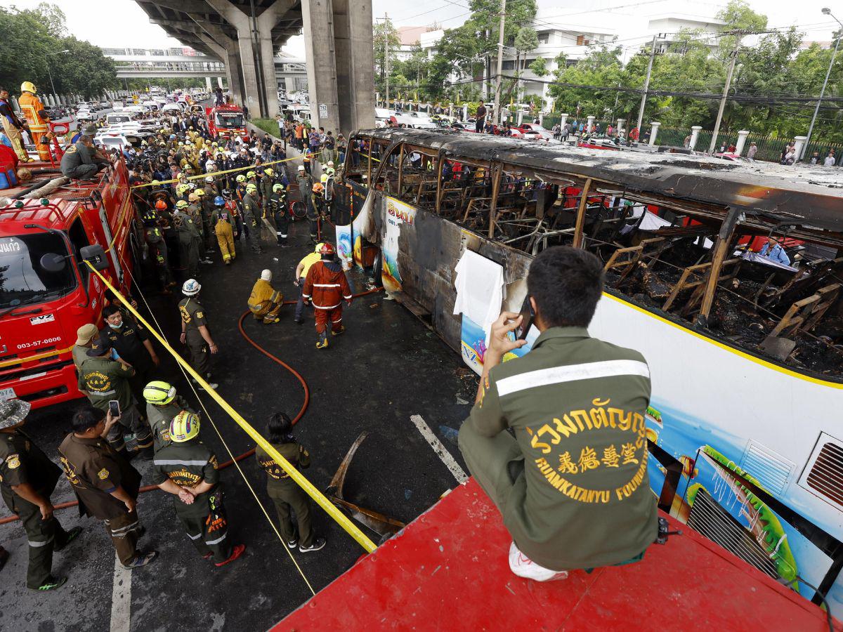
[[122, 158], [99, 181], [0, 207], [0, 399], [39, 408], [81, 397], [71, 350], [81, 325], [101, 325], [107, 289], [84, 261], [128, 291], [142, 253], [136, 216]]

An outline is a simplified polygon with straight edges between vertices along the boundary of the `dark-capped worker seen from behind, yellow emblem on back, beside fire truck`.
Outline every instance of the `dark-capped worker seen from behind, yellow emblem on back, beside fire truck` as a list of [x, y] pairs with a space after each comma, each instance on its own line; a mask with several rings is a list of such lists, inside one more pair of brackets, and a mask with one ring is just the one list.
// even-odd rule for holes
[[[117, 423], [109, 426], [108, 436], [108, 442], [116, 452], [126, 453], [128, 447], [133, 452], [138, 451], [144, 457], [149, 457], [153, 439], [132, 396], [129, 380], [134, 375], [135, 369], [126, 361], [111, 359], [110, 343], [99, 338], [94, 340], [88, 351], [88, 359], [79, 368], [78, 388], [88, 395], [90, 403], [99, 410], [107, 412], [111, 399], [116, 399], [120, 405], [121, 416]], [[124, 429], [135, 435], [128, 446], [123, 438]]]

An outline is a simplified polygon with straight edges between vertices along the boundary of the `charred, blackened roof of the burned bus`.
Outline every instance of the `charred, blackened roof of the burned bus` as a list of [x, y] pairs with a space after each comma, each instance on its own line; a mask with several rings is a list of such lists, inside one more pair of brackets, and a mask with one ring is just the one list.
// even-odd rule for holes
[[[712, 219], [722, 219], [728, 207], [740, 208], [747, 216], [764, 217], [765, 224], [798, 227], [798, 235], [791, 230], [794, 237], [843, 246], [843, 170], [728, 162], [649, 147], [606, 151], [544, 145], [465, 131], [379, 128], [356, 134], [430, 147], [454, 159], [483, 156], [540, 177], [578, 179], [572, 184], [592, 179], [604, 192], [663, 197], [663, 203], [670, 200], [670, 206], [692, 214], [713, 213]], [[832, 234], [817, 234], [817, 229]]]

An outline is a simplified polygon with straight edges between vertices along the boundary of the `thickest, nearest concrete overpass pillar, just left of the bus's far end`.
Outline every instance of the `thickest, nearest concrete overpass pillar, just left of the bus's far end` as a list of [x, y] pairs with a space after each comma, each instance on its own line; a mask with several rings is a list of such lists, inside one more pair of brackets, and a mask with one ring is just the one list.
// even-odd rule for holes
[[374, 126], [372, 4], [302, 0], [314, 126], [335, 134]]

